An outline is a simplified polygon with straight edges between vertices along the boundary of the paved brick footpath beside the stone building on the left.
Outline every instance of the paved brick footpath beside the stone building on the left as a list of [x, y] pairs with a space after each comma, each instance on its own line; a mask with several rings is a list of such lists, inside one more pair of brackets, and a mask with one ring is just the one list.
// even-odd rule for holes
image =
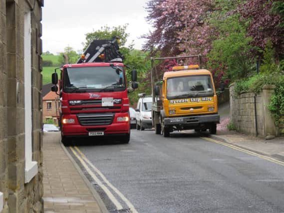
[[60, 133], [43, 135], [44, 213], [106, 213], [97, 192], [90, 186], [60, 143]]

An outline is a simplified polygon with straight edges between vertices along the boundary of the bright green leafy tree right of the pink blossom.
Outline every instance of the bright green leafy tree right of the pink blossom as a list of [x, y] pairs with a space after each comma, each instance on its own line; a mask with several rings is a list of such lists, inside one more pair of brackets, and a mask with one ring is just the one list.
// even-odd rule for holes
[[225, 75], [231, 81], [249, 76], [251, 73], [251, 38], [247, 37], [245, 24], [239, 21], [238, 15], [231, 15], [220, 24], [219, 39], [213, 41], [208, 54], [208, 67], [213, 70], [217, 83]]

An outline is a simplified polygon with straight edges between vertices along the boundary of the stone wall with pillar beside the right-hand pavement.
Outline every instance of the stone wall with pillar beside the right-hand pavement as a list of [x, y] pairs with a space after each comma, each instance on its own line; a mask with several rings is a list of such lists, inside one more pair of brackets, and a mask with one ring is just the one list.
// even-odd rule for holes
[[237, 131], [262, 137], [279, 136], [279, 128], [268, 108], [274, 88], [264, 86], [257, 94], [245, 92], [236, 96], [234, 84], [230, 85], [230, 117]]

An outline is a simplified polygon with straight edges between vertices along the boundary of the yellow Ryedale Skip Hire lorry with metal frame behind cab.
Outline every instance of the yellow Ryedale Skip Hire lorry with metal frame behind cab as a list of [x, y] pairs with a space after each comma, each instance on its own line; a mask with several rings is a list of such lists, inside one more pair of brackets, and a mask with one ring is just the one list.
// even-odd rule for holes
[[[196, 65], [175, 66], [165, 72], [163, 80], [155, 80], [155, 61], [198, 58]], [[151, 58], [152, 125], [156, 134], [169, 137], [173, 131], [206, 131], [216, 134], [217, 95], [210, 71], [201, 69], [201, 56]]]

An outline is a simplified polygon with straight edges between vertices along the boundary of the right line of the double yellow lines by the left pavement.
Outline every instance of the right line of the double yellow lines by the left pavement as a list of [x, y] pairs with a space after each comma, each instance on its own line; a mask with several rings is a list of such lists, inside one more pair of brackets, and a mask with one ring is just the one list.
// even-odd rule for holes
[[119, 192], [118, 189], [116, 189], [107, 179], [106, 177], [87, 159], [87, 157], [79, 150], [76, 146], [74, 147], [77, 152], [81, 155], [81, 157], [84, 159], [84, 161], [89, 164], [90, 167], [94, 169], [94, 171], [102, 178], [102, 180], [106, 183], [107, 186], [109, 186], [120, 198], [125, 202], [125, 204], [128, 206], [128, 208], [131, 210], [132, 213], [138, 213], [137, 210], [134, 208], [134, 206], [131, 204], [131, 202], [125, 198], [125, 196]]

